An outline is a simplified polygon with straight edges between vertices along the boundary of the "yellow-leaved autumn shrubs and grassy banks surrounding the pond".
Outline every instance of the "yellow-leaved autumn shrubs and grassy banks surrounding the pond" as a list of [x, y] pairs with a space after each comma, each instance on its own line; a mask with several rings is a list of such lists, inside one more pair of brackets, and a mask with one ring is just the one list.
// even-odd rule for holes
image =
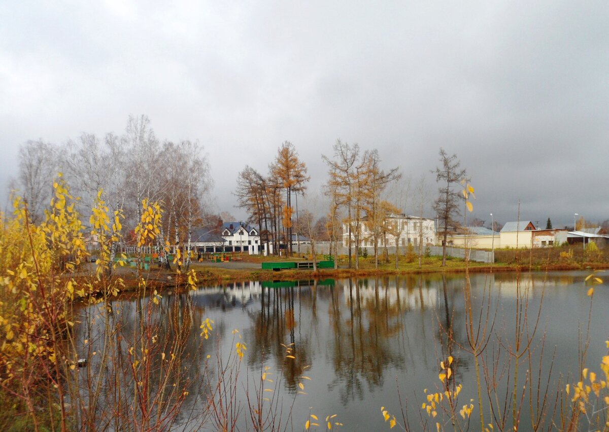
[[[576, 430], [583, 423], [588, 423], [590, 430], [599, 425], [609, 427], [609, 352], [600, 364], [602, 375], [600, 372], [588, 374], [586, 367], [594, 285], [603, 284], [602, 279], [595, 276], [595, 269], [609, 268], [609, 250], [598, 249], [595, 243], [590, 243], [588, 248], [565, 245], [496, 251], [492, 266], [460, 259], [446, 259], [443, 265], [441, 257], [421, 256], [419, 260], [407, 250], [404, 257], [399, 256], [397, 266], [398, 257], [392, 260], [392, 256], [385, 253], [380, 265], [376, 266], [370, 257], [361, 257], [359, 262], [356, 260], [359, 266], [354, 270], [344, 268], [348, 257], [339, 256], [339, 268], [316, 272], [263, 271], [262, 260], [273, 261], [276, 257], [234, 256], [233, 263], [192, 262], [194, 256], [189, 248], [175, 249], [171, 263], [170, 245], [165, 243], [159, 249], [164, 267], [153, 265], [152, 270], [144, 270], [143, 267], [150, 268], [144, 248], [150, 250], [164, 237], [160, 204], [146, 199], [141, 201], [141, 207], [138, 204], [137, 223], [129, 232], [128, 242], [135, 241], [137, 245], [134, 264], [139, 267], [127, 267], [124, 264], [127, 260], [132, 263], [132, 257], [118, 250], [123, 238], [124, 215], [121, 211], [111, 211], [99, 192], [89, 219], [91, 238], [99, 245], [97, 251], [93, 251], [95, 263], [91, 263], [92, 251], [86, 249], [85, 226], [76, 209], [76, 200], [61, 178], [53, 186], [50, 209], [40, 223], [32, 220], [27, 202], [18, 197], [13, 203], [13, 216], [0, 217], [0, 425], [4, 430], [172, 430], [194, 425], [194, 430], [233, 431], [239, 428], [239, 422], [246, 424], [245, 429], [257, 431], [301, 430], [303, 423], [305, 430], [319, 430], [321, 427], [313, 421], [317, 421], [317, 416], [312, 411], [309, 419], [292, 411], [300, 391], [292, 392], [286, 400], [270, 394], [281, 385], [280, 381], [267, 378], [271, 374], [280, 377], [284, 372], [289, 373], [292, 384], [297, 385], [294, 389], [301, 391], [305, 391], [308, 380], [312, 379], [305, 375], [309, 366], [295, 341], [287, 337], [273, 340], [273, 349], [279, 350], [283, 361], [273, 372], [270, 372], [272, 364], [261, 361], [260, 379], [250, 381], [239, 373], [248, 344], [252, 344], [253, 352], [255, 340], [234, 329], [228, 336], [232, 338], [233, 349], [224, 355], [213, 348], [213, 340], [208, 341], [210, 335], [217, 341], [223, 336], [214, 330], [216, 324], [206, 316], [205, 308], [195, 308], [189, 303], [190, 296], [183, 296], [184, 304], [167, 307], [164, 293], [252, 279], [417, 273], [438, 274], [445, 282], [445, 297], [445, 274], [465, 273], [462, 294], [467, 335], [466, 344], [459, 345], [449, 324], [452, 321], [437, 322], [442, 352], [437, 353], [436, 360], [442, 372], [436, 383], [438, 391], [430, 391], [421, 407], [421, 412], [427, 411], [429, 417], [420, 416], [422, 429], [466, 430], [470, 427], [470, 416], [474, 416], [472, 421], [479, 416], [480, 430], [517, 430], [521, 421], [523, 427], [530, 425], [532, 430], [554, 424], [563, 430]], [[297, 258], [287, 260], [308, 258], [298, 254]], [[583, 282], [588, 289], [590, 309], [588, 326], [581, 334], [578, 364], [573, 365], [578, 372], [569, 372], [556, 386], [550, 380], [550, 372], [541, 366], [537, 369], [531, 366], [537, 361], [539, 346], [543, 355], [544, 335], [538, 332], [541, 304], [538, 310], [529, 310], [530, 290], [526, 283], [521, 286], [518, 270], [529, 269], [589, 269], [591, 273]], [[493, 369], [497, 363], [496, 358], [493, 359], [495, 353], [487, 352], [488, 342], [501, 336], [500, 330], [495, 329], [496, 323], [501, 324], [496, 322], [491, 285], [483, 288], [481, 309], [473, 306], [470, 287], [470, 272], [491, 270], [516, 270], [516, 307], [511, 312], [514, 336], [513, 340], [502, 341], [508, 356], [507, 375]], [[359, 292], [359, 287], [355, 290]], [[273, 296], [277, 305], [289, 303], [289, 296], [283, 296], [281, 291], [273, 290]], [[359, 298], [359, 294], [356, 297]], [[136, 300], [135, 310], [132, 315], [124, 315], [128, 312], [122, 310], [124, 305], [120, 300], [129, 298]], [[446, 316], [449, 315], [447, 308]], [[127, 317], [126, 321], [121, 321], [123, 316]], [[285, 316], [286, 326], [293, 328], [294, 314], [286, 310]], [[432, 324], [434, 329], [435, 325]], [[509, 330], [506, 325], [509, 326], [503, 324], [501, 332]], [[220, 327], [220, 323], [217, 326]], [[609, 341], [605, 344], [609, 349]], [[462, 388], [462, 384], [457, 383], [459, 374], [453, 373], [459, 368], [460, 358], [455, 357], [458, 352], [463, 357], [468, 355], [476, 366], [475, 409], [473, 399], [463, 406], [457, 400]], [[594, 367], [597, 359], [592, 362]], [[547, 384], [541, 386], [542, 381]], [[523, 384], [525, 390], [521, 390]], [[245, 386], [247, 403], [239, 399], [241, 385]], [[508, 390], [504, 392], [504, 388]], [[191, 409], [189, 404], [193, 400], [202, 400], [200, 410]], [[408, 404], [406, 400], [399, 403], [393, 405], [392, 412]], [[537, 408], [526, 414], [527, 406], [533, 403], [537, 403]], [[492, 417], [488, 417], [490, 411]], [[384, 406], [381, 413], [379, 422], [384, 419], [389, 422], [389, 428], [396, 424], [403, 430], [410, 428], [405, 414], [401, 420], [396, 419]], [[326, 417], [327, 429], [332, 419], [334, 426], [342, 426], [343, 420], [337, 420], [336, 416], [335, 413]]]

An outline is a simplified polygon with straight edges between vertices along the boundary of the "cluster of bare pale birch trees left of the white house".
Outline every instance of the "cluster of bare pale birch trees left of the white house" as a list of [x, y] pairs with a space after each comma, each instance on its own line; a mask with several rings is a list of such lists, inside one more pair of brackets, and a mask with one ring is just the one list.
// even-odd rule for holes
[[[169, 243], [190, 249], [193, 226], [206, 223], [211, 213], [213, 179], [203, 146], [197, 141], [160, 141], [146, 115], [129, 116], [121, 135], [82, 133], [63, 144], [26, 142], [12, 186], [24, 195], [32, 221], [40, 221], [48, 208], [58, 173], [72, 196], [79, 197], [80, 214], [88, 214], [101, 190], [111, 211], [125, 216], [123, 225], [131, 237], [127, 242], [133, 240], [144, 198], [158, 201], [163, 210], [158, 246]], [[166, 259], [164, 263], [169, 265]], [[188, 263], [189, 254], [186, 267]]]

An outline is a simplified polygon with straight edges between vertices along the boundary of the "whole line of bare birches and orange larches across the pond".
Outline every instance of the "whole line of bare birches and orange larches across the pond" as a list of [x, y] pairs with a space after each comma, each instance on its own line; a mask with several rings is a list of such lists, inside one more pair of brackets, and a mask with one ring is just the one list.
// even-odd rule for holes
[[[460, 167], [456, 155], [449, 155], [443, 148], [439, 152], [440, 166], [432, 171], [439, 189], [431, 206], [434, 194], [424, 175], [411, 187], [412, 173], [401, 173], [399, 167], [384, 168], [378, 150], [340, 139], [331, 153], [320, 155], [320, 164], [328, 169], [323, 187], [309, 190], [311, 177], [298, 155], [299, 145], [303, 144], [284, 141], [274, 156], [269, 155], [266, 174], [248, 164], [236, 174], [235, 207], [247, 213], [248, 223], [259, 227], [262, 245], [272, 246], [274, 254], [285, 247], [286, 254], [292, 255], [292, 242], [298, 236], [329, 242], [329, 253], [336, 255], [339, 243], [343, 243], [344, 228], [344, 235], [351, 239], [345, 242], [348, 267], [357, 269], [362, 245], [373, 246], [378, 265], [381, 253], [383, 259], [389, 259], [387, 235], [400, 242], [400, 232], [387, 221], [391, 215], [409, 212], [436, 218], [444, 245], [449, 232], [463, 223], [458, 217], [463, 199], [459, 182], [466, 179], [466, 170]], [[160, 139], [146, 115], [128, 116], [121, 134], [83, 132], [61, 144], [42, 138], [24, 142], [19, 148], [19, 174], [12, 179], [11, 187], [26, 199], [33, 222], [44, 217], [58, 173], [62, 173], [72, 196], [79, 197], [76, 206], [81, 214], [88, 214], [101, 190], [110, 210], [125, 217], [128, 234], [123, 241], [127, 244], [135, 239], [132, 231], [141, 218], [144, 198], [158, 201], [163, 211], [158, 248], [171, 245], [190, 251], [193, 228], [217, 231], [223, 221], [234, 220], [231, 209], [217, 209], [214, 204], [210, 169], [205, 148], [195, 139]], [[322, 183], [319, 178], [315, 180]], [[501, 229], [497, 218], [493, 222], [493, 229]], [[491, 224], [488, 218], [474, 214], [468, 225]], [[546, 226], [552, 226], [550, 218]], [[576, 220], [576, 228], [584, 226], [606, 229], [609, 225], [583, 217]], [[421, 256], [423, 239], [417, 243]], [[379, 251], [381, 245], [385, 248]], [[186, 267], [190, 259], [188, 254]], [[398, 259], [399, 253], [396, 266]], [[161, 262], [170, 267], [166, 257], [161, 256]]]

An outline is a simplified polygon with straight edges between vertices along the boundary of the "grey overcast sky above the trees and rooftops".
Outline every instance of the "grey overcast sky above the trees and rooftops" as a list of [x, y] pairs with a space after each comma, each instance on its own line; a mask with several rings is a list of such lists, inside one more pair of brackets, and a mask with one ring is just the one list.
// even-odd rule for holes
[[487, 223], [518, 201], [543, 226], [602, 221], [608, 23], [607, 1], [5, 0], [0, 190], [28, 139], [147, 114], [158, 138], [199, 140], [216, 211], [239, 218], [245, 164], [266, 173], [291, 141], [317, 191], [340, 138], [428, 175], [434, 197], [438, 150], [456, 153]]

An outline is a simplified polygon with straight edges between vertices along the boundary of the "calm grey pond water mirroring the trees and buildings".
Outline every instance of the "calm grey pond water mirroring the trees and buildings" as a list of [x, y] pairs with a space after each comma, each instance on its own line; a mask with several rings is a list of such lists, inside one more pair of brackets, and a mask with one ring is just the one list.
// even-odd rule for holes
[[[558, 378], [579, 374], [580, 345], [591, 307], [584, 282], [588, 274], [579, 271], [527, 273], [521, 275], [519, 284], [513, 273], [470, 276], [476, 322], [479, 316], [483, 322], [487, 321], [487, 310], [490, 314], [488, 345], [480, 359], [482, 366], [491, 373], [495, 371], [501, 403], [505, 400], [506, 383], [511, 384], [513, 380], [515, 360], [508, 352], [515, 346], [515, 317], [518, 308], [524, 313], [525, 294], [527, 321], [523, 315], [521, 329], [523, 334], [532, 335], [533, 342], [532, 355], [520, 360], [521, 384], [525, 383], [526, 371], [532, 369], [536, 387], [541, 367], [542, 391], [550, 374], [549, 394], [555, 395]], [[388, 430], [381, 406], [400, 423], [401, 409], [404, 409], [410, 429], [420, 430], [421, 418], [429, 421], [429, 425], [435, 425], [440, 419], [438, 416], [428, 420], [421, 403], [425, 400], [424, 389], [439, 388], [439, 364], [448, 355], [455, 359], [454, 382], [463, 385], [459, 406], [477, 398], [474, 360], [466, 351], [469, 346], [465, 286], [463, 275], [431, 274], [201, 287], [179, 296], [164, 294], [158, 323], [170, 338], [175, 335], [172, 327], [192, 327], [185, 366], [192, 371], [195, 381], [203, 379], [205, 364], [208, 364], [205, 379], [213, 382], [218, 376], [217, 355], [222, 361], [230, 362], [231, 353], [234, 358], [235, 343], [246, 344], [244, 357], [236, 361], [238, 366], [234, 369], [239, 371], [235, 394], [241, 409], [238, 421], [241, 430], [248, 430], [245, 394], [253, 395], [265, 366], [274, 378], [273, 383], [265, 387], [273, 391], [265, 395], [279, 398], [287, 430], [303, 430], [309, 413], [319, 417], [322, 424], [326, 416], [336, 414], [334, 421], [344, 424], [339, 430]], [[596, 287], [592, 304], [586, 366], [597, 371], [600, 371], [602, 356], [607, 354], [604, 343], [609, 336], [607, 288], [607, 284]], [[114, 302], [115, 324], [125, 329], [133, 326], [139, 307], [136, 302]], [[206, 318], [213, 319], [214, 324], [209, 339], [203, 340], [200, 325]], [[537, 319], [537, 331], [533, 334]], [[239, 332], [233, 334], [235, 329]], [[96, 331], [89, 329], [83, 337], [91, 338], [91, 332]], [[447, 336], [449, 331], [452, 342]], [[286, 346], [292, 350], [286, 352]], [[286, 355], [295, 358], [286, 358]], [[303, 374], [311, 379], [302, 378]], [[571, 376], [569, 381], [577, 380]], [[305, 387], [301, 393], [299, 383]], [[195, 390], [191, 390], [185, 408], [197, 412], [206, 405], [207, 386], [199, 382], [192, 388]], [[533, 394], [532, 399], [537, 403], [542, 398]], [[290, 406], [293, 408], [289, 418]], [[488, 411], [488, 406], [485, 409]], [[188, 415], [182, 418], [185, 420]], [[477, 416], [476, 405], [473, 430], [479, 429]], [[530, 429], [528, 416], [529, 409], [525, 408], [522, 430]], [[487, 412], [490, 421], [488, 417]], [[511, 424], [511, 420], [509, 422]], [[199, 425], [200, 422], [193, 422], [176, 430], [192, 430]], [[205, 428], [214, 430], [216, 426], [208, 420]]]

